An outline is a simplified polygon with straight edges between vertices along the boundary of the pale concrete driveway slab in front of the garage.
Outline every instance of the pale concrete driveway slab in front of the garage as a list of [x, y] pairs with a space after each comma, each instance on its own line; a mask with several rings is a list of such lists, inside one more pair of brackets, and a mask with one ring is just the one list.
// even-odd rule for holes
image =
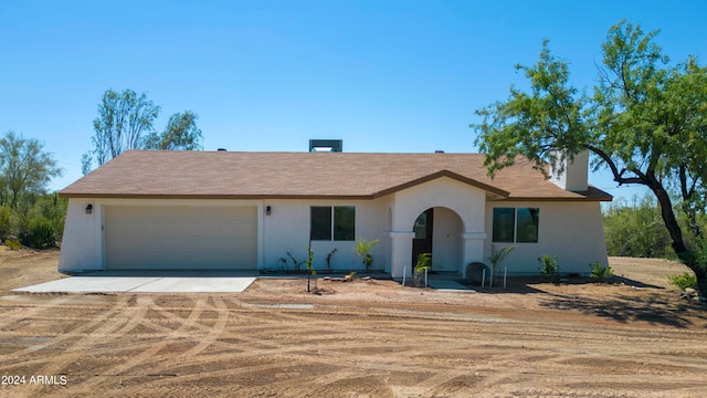
[[240, 293], [256, 272], [125, 271], [93, 272], [20, 287], [29, 293]]

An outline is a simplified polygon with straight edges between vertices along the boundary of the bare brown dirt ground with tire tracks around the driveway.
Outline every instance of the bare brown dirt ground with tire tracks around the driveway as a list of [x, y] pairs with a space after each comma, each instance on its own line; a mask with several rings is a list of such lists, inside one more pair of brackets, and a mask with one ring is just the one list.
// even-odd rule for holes
[[57, 252], [0, 256], [2, 397], [704, 397], [707, 307], [679, 264], [612, 284], [454, 293], [262, 279], [240, 294], [23, 294]]

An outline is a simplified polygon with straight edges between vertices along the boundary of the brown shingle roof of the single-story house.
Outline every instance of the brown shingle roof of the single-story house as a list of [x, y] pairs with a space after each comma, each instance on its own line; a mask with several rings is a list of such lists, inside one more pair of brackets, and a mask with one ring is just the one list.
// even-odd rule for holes
[[439, 177], [495, 198], [611, 200], [545, 180], [528, 161], [486, 176], [479, 154], [236, 153], [129, 150], [64, 188], [64, 197], [377, 198]]

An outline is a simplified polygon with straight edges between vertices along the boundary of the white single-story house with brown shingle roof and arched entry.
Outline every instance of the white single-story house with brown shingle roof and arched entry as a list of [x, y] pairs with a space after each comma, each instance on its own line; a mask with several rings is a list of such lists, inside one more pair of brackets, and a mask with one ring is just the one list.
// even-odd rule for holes
[[[379, 240], [373, 270], [464, 274], [492, 245], [515, 244], [503, 266], [537, 274], [606, 265], [587, 156], [547, 180], [527, 160], [490, 179], [481, 154], [128, 150], [63, 189], [68, 211], [59, 271], [277, 270], [307, 248], [317, 270], [363, 269], [356, 241]], [[292, 268], [292, 265], [291, 265]]]

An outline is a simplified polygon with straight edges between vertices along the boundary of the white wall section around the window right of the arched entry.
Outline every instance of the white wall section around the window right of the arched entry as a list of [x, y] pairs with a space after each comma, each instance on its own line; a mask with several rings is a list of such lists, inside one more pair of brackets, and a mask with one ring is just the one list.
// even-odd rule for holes
[[[539, 208], [537, 243], [493, 243], [493, 208]], [[604, 229], [599, 202], [561, 201], [489, 201], [486, 205], [486, 234], [484, 263], [488, 263], [492, 243], [496, 249], [515, 244], [500, 264], [508, 274], [538, 274], [538, 258], [557, 255], [560, 272], [588, 274], [589, 264], [599, 261], [608, 265]]]

